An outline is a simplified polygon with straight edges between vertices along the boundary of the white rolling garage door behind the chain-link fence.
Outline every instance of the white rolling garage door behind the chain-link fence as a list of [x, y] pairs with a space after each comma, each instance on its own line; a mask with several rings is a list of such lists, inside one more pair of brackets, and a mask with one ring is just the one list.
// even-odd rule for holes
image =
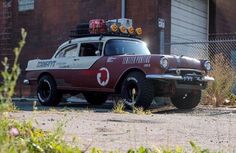
[[[208, 40], [208, 0], [171, 1], [171, 43]], [[202, 52], [199, 50], [198, 52]], [[171, 53], [196, 56], [189, 45], [172, 45]]]

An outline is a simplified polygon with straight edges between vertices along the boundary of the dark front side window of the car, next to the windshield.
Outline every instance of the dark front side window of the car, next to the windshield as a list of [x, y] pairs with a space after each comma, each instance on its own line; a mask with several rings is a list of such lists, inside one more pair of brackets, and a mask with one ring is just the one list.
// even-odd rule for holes
[[98, 56], [96, 51], [100, 51], [101, 55], [102, 46], [101, 42], [81, 43], [79, 56]]

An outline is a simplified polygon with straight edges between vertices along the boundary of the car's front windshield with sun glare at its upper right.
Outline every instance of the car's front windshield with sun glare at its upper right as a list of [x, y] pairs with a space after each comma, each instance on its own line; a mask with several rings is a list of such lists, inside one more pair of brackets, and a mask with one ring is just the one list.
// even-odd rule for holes
[[141, 41], [135, 40], [109, 40], [106, 43], [105, 55], [150, 55], [147, 45]]

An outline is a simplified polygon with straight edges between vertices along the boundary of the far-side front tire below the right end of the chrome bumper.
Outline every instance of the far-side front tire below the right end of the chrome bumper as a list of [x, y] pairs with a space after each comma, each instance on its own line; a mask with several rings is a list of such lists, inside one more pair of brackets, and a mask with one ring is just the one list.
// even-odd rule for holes
[[171, 97], [172, 104], [179, 109], [193, 109], [201, 101], [201, 90], [183, 93]]

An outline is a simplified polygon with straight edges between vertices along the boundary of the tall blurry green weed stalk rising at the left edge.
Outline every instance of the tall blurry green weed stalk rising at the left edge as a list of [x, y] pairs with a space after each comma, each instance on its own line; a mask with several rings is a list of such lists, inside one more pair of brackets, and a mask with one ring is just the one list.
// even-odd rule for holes
[[19, 46], [13, 50], [15, 55], [13, 65], [10, 67], [7, 57], [2, 61], [4, 70], [0, 72], [1, 77], [3, 78], [3, 83], [0, 84], [0, 111], [10, 111], [14, 109], [12, 96], [14, 95], [16, 83], [20, 75], [18, 60], [27, 36], [27, 32], [24, 29], [21, 29], [21, 36], [22, 39], [19, 42]]

